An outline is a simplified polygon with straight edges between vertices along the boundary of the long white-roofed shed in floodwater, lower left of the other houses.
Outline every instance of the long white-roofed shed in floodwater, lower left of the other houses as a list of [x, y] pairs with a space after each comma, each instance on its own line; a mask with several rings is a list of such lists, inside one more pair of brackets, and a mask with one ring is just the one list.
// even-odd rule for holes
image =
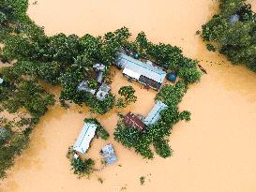
[[96, 124], [85, 123], [73, 146], [73, 149], [77, 152], [85, 154], [89, 149], [91, 140], [95, 136], [96, 129]]

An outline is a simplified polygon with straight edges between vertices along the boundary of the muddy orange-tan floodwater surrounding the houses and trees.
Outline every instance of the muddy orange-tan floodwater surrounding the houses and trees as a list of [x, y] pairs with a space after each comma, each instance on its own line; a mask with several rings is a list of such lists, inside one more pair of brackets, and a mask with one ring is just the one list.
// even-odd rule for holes
[[[54, 106], [31, 135], [30, 147], [18, 157], [0, 182], [1, 192], [255, 192], [256, 191], [256, 75], [244, 66], [232, 66], [216, 52], [207, 52], [195, 35], [217, 10], [212, 0], [38, 0], [28, 13], [48, 35], [85, 33], [103, 35], [122, 26], [144, 31], [154, 42], [171, 43], [207, 70], [190, 86], [180, 104], [191, 111], [191, 121], [173, 127], [173, 156], [144, 160], [113, 140], [93, 140], [88, 156], [98, 162], [98, 151], [112, 142], [119, 161], [90, 180], [77, 179], [66, 157], [88, 109], [68, 111]], [[250, 3], [256, 7], [256, 1]], [[115, 72], [114, 72], [115, 71]], [[113, 93], [132, 84], [138, 101], [127, 111], [146, 114], [156, 92], [126, 81], [113, 68]], [[58, 88], [51, 88], [58, 94]], [[116, 111], [99, 117], [113, 133]], [[144, 185], [139, 178], [145, 176]], [[103, 184], [98, 182], [103, 179]]]

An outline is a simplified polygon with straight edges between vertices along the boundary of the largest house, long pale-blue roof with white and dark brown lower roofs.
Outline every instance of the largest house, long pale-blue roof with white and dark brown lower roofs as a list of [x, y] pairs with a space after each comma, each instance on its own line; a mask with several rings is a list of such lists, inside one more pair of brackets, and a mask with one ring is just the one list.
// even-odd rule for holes
[[165, 71], [153, 66], [151, 62], [143, 63], [125, 53], [118, 53], [115, 65], [123, 68], [123, 74], [128, 78], [139, 81], [154, 90], [159, 90], [165, 80]]

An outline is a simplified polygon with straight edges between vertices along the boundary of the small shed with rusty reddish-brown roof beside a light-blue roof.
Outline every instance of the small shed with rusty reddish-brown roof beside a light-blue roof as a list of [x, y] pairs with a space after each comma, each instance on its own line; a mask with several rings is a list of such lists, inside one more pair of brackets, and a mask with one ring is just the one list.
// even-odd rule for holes
[[123, 119], [123, 122], [126, 126], [135, 127], [141, 131], [143, 131], [143, 129], [145, 128], [143, 121], [131, 112], [128, 112], [128, 114]]

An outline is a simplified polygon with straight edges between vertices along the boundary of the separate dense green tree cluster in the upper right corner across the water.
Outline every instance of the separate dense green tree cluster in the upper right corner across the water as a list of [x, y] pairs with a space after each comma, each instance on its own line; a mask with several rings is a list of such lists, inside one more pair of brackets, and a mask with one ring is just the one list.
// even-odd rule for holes
[[219, 0], [219, 12], [203, 25], [202, 37], [210, 51], [256, 72], [256, 14], [244, 0]]

